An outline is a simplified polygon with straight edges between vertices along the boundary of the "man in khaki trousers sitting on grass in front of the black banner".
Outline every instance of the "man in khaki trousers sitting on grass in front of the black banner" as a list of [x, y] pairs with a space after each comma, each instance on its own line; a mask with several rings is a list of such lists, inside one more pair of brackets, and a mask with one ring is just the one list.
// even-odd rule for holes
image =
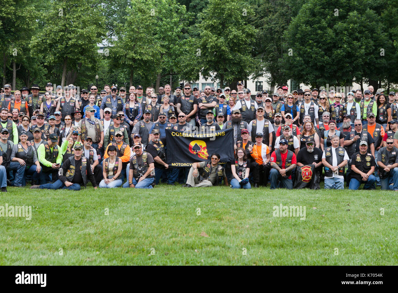
[[183, 187], [210, 187], [219, 185], [222, 179], [224, 179], [225, 186], [228, 186], [224, 167], [219, 164], [220, 155], [212, 153], [210, 158], [210, 161], [192, 164], [191, 169], [189, 169], [187, 184]]

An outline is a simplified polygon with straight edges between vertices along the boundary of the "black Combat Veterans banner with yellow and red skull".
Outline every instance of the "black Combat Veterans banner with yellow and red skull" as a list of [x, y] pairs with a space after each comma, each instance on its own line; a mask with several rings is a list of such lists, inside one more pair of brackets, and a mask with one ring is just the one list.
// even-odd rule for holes
[[234, 158], [233, 129], [211, 133], [166, 129], [166, 163], [170, 167], [190, 167], [192, 163], [207, 161], [212, 153], [220, 154], [220, 163]]

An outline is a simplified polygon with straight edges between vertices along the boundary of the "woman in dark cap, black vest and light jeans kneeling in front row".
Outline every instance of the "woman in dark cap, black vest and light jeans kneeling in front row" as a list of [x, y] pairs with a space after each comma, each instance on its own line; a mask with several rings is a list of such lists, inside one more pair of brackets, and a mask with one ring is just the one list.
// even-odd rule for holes
[[102, 175], [103, 179], [100, 182], [100, 188], [113, 188], [122, 185], [120, 173], [122, 171], [122, 159], [116, 157], [116, 147], [108, 147], [108, 155], [102, 162]]

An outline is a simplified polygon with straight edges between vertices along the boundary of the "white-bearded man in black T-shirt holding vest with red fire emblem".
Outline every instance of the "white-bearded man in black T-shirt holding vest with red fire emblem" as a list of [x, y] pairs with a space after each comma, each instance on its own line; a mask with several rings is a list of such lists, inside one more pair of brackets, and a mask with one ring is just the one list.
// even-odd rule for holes
[[316, 182], [314, 182], [314, 189], [319, 189], [320, 174], [322, 173], [322, 151], [315, 147], [314, 140], [306, 142], [306, 147], [303, 147], [297, 154], [297, 167], [305, 165], [314, 165], [316, 173]]

